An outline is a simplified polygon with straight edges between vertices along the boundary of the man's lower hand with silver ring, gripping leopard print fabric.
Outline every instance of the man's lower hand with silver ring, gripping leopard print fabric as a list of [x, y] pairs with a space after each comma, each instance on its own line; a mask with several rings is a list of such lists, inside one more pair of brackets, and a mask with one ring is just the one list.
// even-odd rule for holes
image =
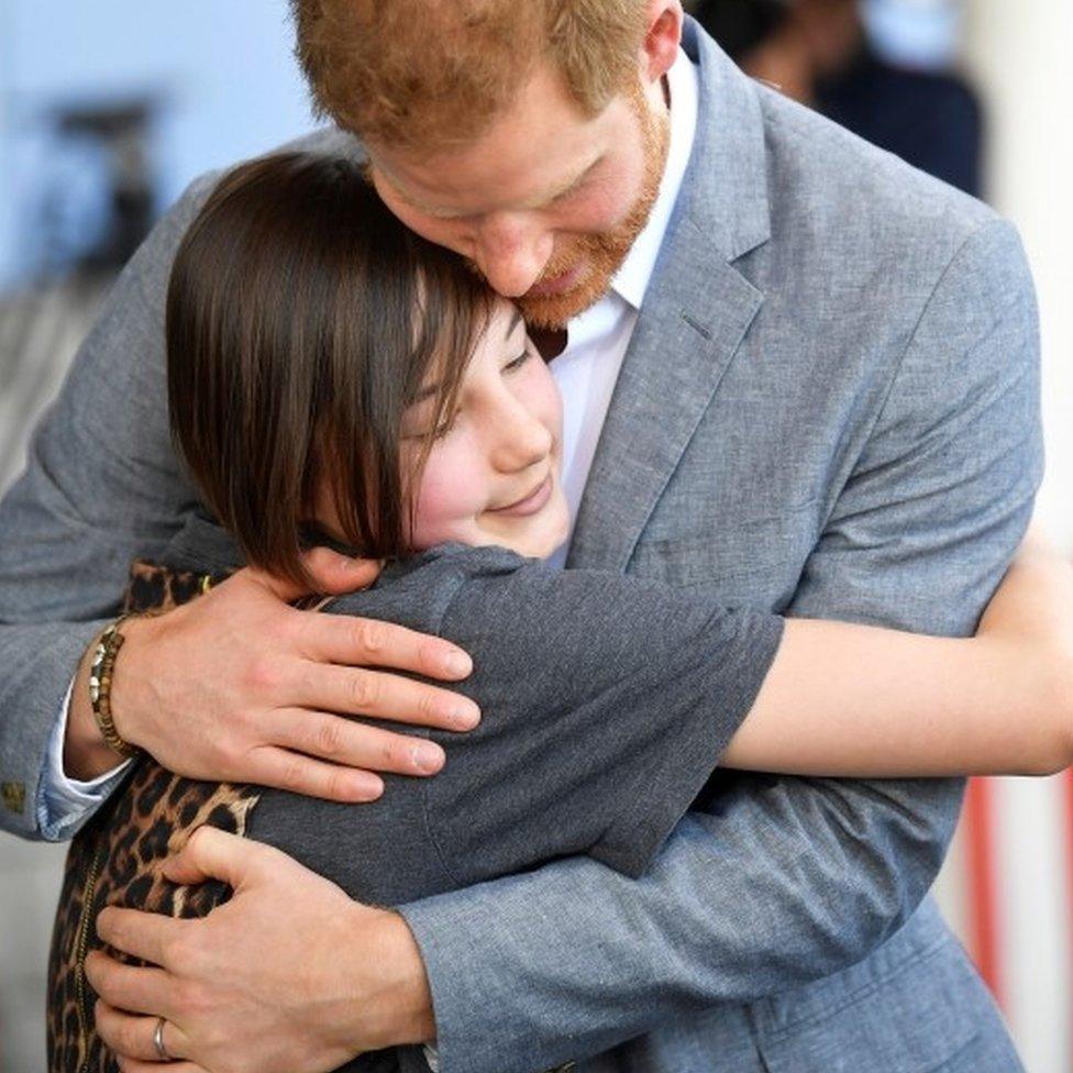
[[177, 883], [223, 880], [203, 920], [104, 909], [95, 952], [97, 1027], [124, 1073], [153, 1073], [153, 1036], [180, 1073], [322, 1073], [364, 1051], [432, 1039], [432, 999], [401, 917], [352, 901], [278, 850], [202, 828], [165, 866]]

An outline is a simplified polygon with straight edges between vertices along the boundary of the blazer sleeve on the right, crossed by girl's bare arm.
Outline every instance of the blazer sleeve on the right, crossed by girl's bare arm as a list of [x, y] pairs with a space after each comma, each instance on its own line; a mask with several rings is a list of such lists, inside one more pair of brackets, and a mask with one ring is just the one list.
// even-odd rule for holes
[[[795, 613], [973, 630], [1041, 475], [1038, 357], [1019, 242], [985, 223], [923, 308]], [[574, 858], [403, 907], [441, 1070], [550, 1066], [861, 961], [931, 886], [961, 793], [743, 776], [637, 882]]]

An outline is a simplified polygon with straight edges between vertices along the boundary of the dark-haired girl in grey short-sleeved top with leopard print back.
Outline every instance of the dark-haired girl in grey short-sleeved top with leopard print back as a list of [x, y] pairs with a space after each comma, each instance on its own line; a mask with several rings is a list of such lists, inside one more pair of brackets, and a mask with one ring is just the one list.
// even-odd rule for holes
[[176, 440], [222, 528], [192, 517], [150, 580], [192, 596], [243, 562], [301, 579], [311, 541], [387, 558], [332, 611], [461, 645], [485, 718], [425, 731], [444, 770], [388, 776], [359, 807], [141, 757], [68, 861], [53, 1069], [111, 1068], [84, 974], [100, 907], [198, 915], [225, 896], [159, 874], [201, 823], [398, 904], [571, 853], [639, 875], [717, 763], [874, 776], [1071, 760], [1073, 580], [1042, 552], [1021, 556], [971, 640], [545, 567], [568, 527], [551, 375], [513, 308], [407, 232], [352, 162], [231, 173], [176, 258], [167, 346]]

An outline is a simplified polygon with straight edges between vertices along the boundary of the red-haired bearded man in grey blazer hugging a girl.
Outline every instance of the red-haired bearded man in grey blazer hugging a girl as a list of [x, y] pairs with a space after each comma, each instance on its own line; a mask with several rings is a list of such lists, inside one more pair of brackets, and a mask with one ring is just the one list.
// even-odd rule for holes
[[[694, 24], [683, 37], [677, 2], [296, 10], [317, 98], [361, 133], [392, 210], [531, 321], [568, 327], [553, 369], [567, 399], [571, 565], [789, 613], [972, 629], [1040, 471], [1035, 307], [1011, 229], [749, 81]], [[135, 257], [4, 504], [4, 607], [18, 597], [30, 624], [7, 628], [0, 732], [26, 770], [47, 751], [34, 720], [60, 705], [97, 629], [35, 623], [107, 606], [101, 591], [45, 604], [42, 577], [110, 565], [118, 586], [122, 562], [192, 506], [167, 444], [158, 336], [169, 256], [210, 186]], [[59, 544], [71, 534], [78, 544]], [[358, 573], [317, 565], [327, 589]], [[232, 593], [215, 622], [226, 610], [226, 633], [256, 637], [270, 659], [210, 630], [202, 601], [130, 631], [115, 726], [166, 762], [172, 749], [173, 766], [219, 762], [168, 740], [193, 707], [184, 699], [248, 726], [266, 694], [283, 695], [300, 730], [328, 718], [316, 709], [369, 710], [344, 695], [355, 682], [378, 683], [375, 714], [406, 708], [385, 678], [310, 699], [321, 661], [433, 670], [398, 635], [372, 638], [379, 657], [363, 661], [279, 611], [291, 594], [264, 578]], [[158, 696], [146, 665], [166, 679]], [[48, 688], [32, 686], [42, 667]], [[79, 689], [68, 771], [89, 775], [113, 760], [90, 744]], [[330, 730], [316, 748], [299, 730], [265, 746], [292, 785], [375, 792], [340, 773], [362, 766], [357, 739]], [[302, 752], [343, 764], [314, 771]], [[191, 1070], [324, 1070], [433, 1036], [444, 1071], [571, 1059], [676, 1073], [1018, 1069], [925, 899], [960, 793], [953, 781], [728, 776], [639, 882], [571, 859], [399, 914], [200, 832], [173, 876], [215, 875], [235, 897], [203, 921], [101, 914], [106, 941], [161, 967], [92, 961], [98, 1024], [126, 1070], [162, 1054]], [[422, 1054], [406, 1051], [407, 1068]]]

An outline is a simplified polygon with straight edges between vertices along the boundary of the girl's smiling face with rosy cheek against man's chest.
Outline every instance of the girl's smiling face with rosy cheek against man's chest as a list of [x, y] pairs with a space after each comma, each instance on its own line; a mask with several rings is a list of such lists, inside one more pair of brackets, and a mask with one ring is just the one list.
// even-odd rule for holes
[[[429, 397], [406, 411], [403, 464], [417, 458], [433, 410]], [[411, 546], [461, 541], [550, 555], [569, 530], [561, 451], [558, 389], [517, 309], [497, 301], [413, 489]]]

